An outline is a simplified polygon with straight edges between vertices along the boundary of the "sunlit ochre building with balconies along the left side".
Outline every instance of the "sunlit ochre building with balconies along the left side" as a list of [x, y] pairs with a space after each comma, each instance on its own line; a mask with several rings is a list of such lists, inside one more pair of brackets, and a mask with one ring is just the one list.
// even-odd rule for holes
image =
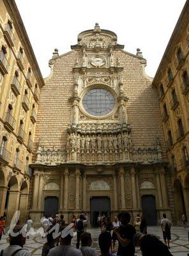
[[0, 1], [0, 216], [25, 221], [43, 77], [15, 1]]

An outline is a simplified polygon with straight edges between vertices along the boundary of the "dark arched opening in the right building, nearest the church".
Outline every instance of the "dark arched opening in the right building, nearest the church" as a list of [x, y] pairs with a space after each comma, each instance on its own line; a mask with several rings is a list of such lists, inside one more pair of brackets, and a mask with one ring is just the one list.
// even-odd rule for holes
[[173, 194], [174, 194], [174, 207], [176, 212], [176, 220], [177, 222], [181, 221], [181, 217], [183, 214], [186, 215], [185, 209], [185, 200], [183, 195], [183, 187], [181, 185], [180, 180], [176, 179], [173, 186]]

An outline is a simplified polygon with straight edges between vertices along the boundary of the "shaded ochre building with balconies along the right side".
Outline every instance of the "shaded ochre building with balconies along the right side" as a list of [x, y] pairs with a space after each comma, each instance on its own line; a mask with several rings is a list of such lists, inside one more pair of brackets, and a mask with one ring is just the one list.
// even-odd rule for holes
[[158, 67], [156, 87], [170, 163], [176, 221], [189, 220], [189, 1]]

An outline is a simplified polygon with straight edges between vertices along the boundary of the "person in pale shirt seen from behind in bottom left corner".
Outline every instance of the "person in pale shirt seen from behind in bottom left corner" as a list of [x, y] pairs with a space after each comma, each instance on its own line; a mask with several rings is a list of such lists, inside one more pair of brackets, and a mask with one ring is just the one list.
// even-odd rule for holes
[[[22, 226], [18, 225], [13, 229], [14, 233], [19, 232], [22, 229]], [[23, 248], [26, 243], [26, 238], [19, 234], [18, 236], [9, 236], [10, 237], [10, 246], [6, 249], [1, 250], [1, 256], [31, 256], [31, 253]]]

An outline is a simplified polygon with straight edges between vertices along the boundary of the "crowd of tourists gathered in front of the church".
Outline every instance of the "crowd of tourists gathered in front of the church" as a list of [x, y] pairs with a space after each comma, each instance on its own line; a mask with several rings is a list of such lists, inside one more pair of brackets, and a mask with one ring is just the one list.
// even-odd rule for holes
[[[147, 223], [143, 216], [137, 215], [130, 225], [130, 214], [128, 212], [121, 212], [111, 221], [110, 217], [98, 216], [98, 227], [101, 229], [98, 237], [98, 245], [101, 256], [135, 256], [135, 246], [139, 246], [142, 256], [168, 256], [172, 255], [169, 252], [170, 242], [170, 221], [163, 214], [161, 221], [163, 239], [165, 244], [158, 239], [158, 237], [147, 234]], [[49, 232], [57, 223], [59, 224], [59, 231], [64, 231], [68, 225], [64, 221], [64, 216], [59, 218], [58, 214], [52, 218], [50, 216], [43, 218], [44, 236], [47, 237], [47, 242], [43, 245], [42, 256], [97, 256], [94, 248], [91, 248], [92, 237], [87, 232], [87, 214], [80, 214], [80, 216], [73, 216], [72, 228], [73, 232], [64, 236], [57, 236], [54, 239], [54, 232]], [[27, 230], [31, 228], [33, 222], [31, 218], [27, 220]], [[1, 223], [0, 223], [1, 228]], [[18, 221], [13, 232], [19, 232], [22, 229]], [[1, 230], [1, 229], [0, 229]], [[71, 245], [73, 234], [77, 232], [76, 248]], [[61, 233], [63, 234], [63, 233]], [[1, 250], [0, 256], [29, 256], [31, 253], [24, 248], [26, 237], [22, 232], [17, 236], [12, 236], [10, 233], [10, 246]], [[30, 236], [30, 235], [29, 235]], [[27, 236], [27, 238], [29, 238]], [[118, 242], [117, 254], [115, 254], [115, 244]], [[80, 244], [81, 243], [81, 244]]]

